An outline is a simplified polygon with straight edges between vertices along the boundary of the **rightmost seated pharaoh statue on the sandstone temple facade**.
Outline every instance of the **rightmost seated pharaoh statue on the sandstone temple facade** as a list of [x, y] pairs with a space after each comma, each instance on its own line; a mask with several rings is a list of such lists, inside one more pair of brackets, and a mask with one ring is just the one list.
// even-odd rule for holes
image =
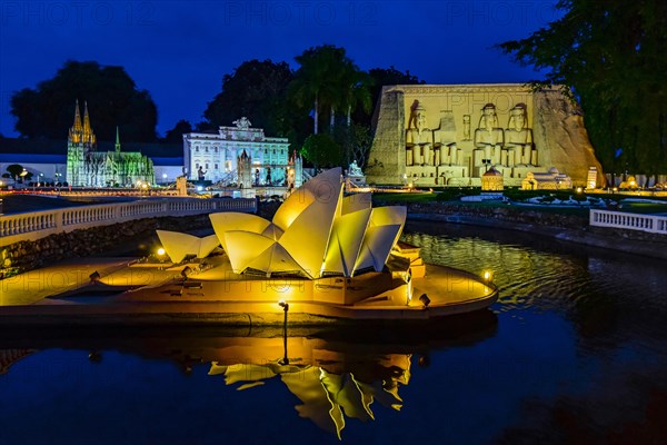
[[528, 127], [526, 103], [517, 103], [509, 110], [509, 122], [505, 131], [505, 149], [508, 166], [536, 166], [537, 151], [532, 146], [532, 130]]

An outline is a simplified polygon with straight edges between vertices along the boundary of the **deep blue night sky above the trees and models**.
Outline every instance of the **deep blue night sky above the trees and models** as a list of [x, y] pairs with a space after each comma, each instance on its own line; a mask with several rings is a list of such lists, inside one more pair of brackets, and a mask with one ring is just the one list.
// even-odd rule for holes
[[[158, 106], [158, 131], [201, 120], [221, 78], [251, 59], [331, 43], [362, 69], [409, 69], [428, 83], [539, 77], [492, 49], [557, 18], [556, 0], [0, 1], [0, 132], [9, 98], [68, 60], [123, 66]], [[94, 126], [94, 117], [93, 126]], [[231, 123], [231, 122], [230, 122]], [[63, 135], [67, 129], [63, 129]]]

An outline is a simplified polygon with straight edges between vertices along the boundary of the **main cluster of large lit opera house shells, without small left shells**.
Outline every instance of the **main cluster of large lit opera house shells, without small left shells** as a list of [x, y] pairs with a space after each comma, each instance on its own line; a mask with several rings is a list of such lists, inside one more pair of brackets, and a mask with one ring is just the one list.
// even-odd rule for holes
[[382, 270], [406, 208], [371, 208], [370, 194], [344, 197], [341, 169], [335, 168], [290, 195], [272, 221], [237, 212], [211, 214], [210, 219], [238, 274], [351, 277]]

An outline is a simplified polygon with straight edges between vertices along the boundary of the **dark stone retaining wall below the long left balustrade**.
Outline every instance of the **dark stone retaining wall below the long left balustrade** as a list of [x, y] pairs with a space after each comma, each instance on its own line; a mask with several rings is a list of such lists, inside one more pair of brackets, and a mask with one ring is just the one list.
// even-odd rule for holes
[[210, 228], [208, 215], [136, 219], [14, 243], [0, 248], [0, 278], [66, 258], [122, 254], [132, 249], [131, 241], [151, 237], [156, 229], [189, 231], [198, 228]]

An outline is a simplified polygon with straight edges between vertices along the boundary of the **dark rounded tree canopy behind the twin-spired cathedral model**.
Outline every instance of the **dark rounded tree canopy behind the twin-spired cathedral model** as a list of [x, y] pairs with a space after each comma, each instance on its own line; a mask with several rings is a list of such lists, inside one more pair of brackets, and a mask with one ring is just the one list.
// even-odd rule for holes
[[113, 140], [117, 126], [127, 140], [156, 140], [158, 111], [150, 93], [122, 67], [94, 61], [67, 61], [52, 79], [16, 92], [10, 100], [16, 130], [29, 138], [67, 138], [77, 99], [88, 102], [98, 140]]

